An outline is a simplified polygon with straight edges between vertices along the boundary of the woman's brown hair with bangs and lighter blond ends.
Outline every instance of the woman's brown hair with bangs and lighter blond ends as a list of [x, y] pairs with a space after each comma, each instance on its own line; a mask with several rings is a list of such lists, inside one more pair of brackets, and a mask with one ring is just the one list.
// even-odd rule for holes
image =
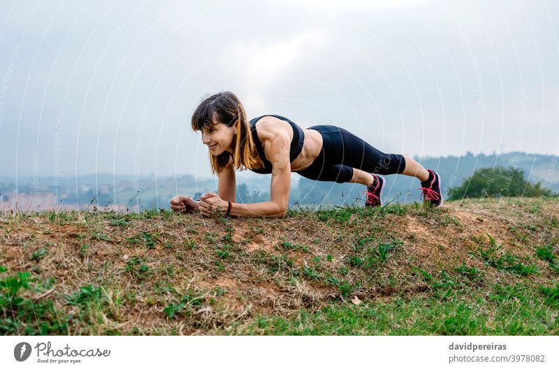
[[[212, 116], [216, 115], [217, 122], [224, 123], [227, 127], [233, 126], [238, 122], [237, 134], [233, 137], [233, 166], [235, 169], [252, 169], [258, 161], [252, 155], [255, 152], [254, 141], [250, 131], [250, 124], [247, 120], [245, 108], [242, 106], [238, 97], [233, 92], [225, 91], [213, 94], [204, 99], [196, 111], [192, 114], [191, 126], [194, 131], [203, 131], [208, 125], [212, 125]], [[220, 155], [213, 155], [208, 150], [212, 173], [215, 175], [224, 169], [229, 162], [231, 153], [223, 152]]]

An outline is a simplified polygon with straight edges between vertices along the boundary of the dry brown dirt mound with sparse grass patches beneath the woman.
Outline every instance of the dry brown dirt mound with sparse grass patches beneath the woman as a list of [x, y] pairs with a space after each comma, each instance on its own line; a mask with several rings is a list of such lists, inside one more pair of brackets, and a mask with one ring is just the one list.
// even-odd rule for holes
[[208, 333], [254, 315], [424, 294], [433, 287], [418, 271], [459, 276], [462, 266], [481, 271], [484, 285], [525, 278], [491, 265], [503, 256], [535, 266], [528, 278], [553, 282], [557, 275], [535, 248], [558, 254], [558, 217], [553, 199], [337, 208], [284, 220], [4, 215], [0, 265], [5, 275], [54, 278], [31, 298], [52, 299], [67, 313], [85, 309], [68, 306], [81, 287], [99, 288], [103, 299], [88, 309], [101, 323], [72, 322], [72, 334]]

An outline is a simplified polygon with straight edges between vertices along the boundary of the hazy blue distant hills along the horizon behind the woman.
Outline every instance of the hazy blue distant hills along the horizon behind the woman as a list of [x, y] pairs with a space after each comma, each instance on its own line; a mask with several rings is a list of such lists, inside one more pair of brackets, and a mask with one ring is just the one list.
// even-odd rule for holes
[[[537, 155], [524, 152], [510, 152], [493, 155], [474, 155], [468, 152], [461, 157], [415, 157], [427, 169], [438, 171], [442, 177], [443, 192], [450, 187], [457, 187], [470, 177], [474, 171], [493, 166], [516, 166], [524, 171], [525, 178], [531, 183], [542, 181], [544, 187], [559, 192], [559, 169], [556, 171], [558, 158], [552, 155]], [[237, 201], [252, 203], [270, 200], [270, 175], [252, 178], [249, 182], [238, 180]], [[421, 192], [417, 189], [419, 180], [409, 176], [386, 176], [384, 201], [409, 203], [419, 200]], [[342, 206], [344, 204], [363, 204], [365, 187], [351, 183], [329, 183], [300, 178], [291, 183], [289, 207], [300, 205]], [[132, 176], [113, 175], [112, 173], [92, 173], [86, 176], [64, 177], [57, 186], [52, 184], [52, 177], [18, 178], [17, 193], [27, 194], [23, 197], [29, 203], [31, 194], [36, 195], [39, 203], [46, 206], [44, 199], [59, 199], [61, 204], [79, 205], [85, 208], [89, 204], [106, 206], [120, 204], [126, 208], [136, 206], [140, 209], [168, 208], [169, 199], [177, 194], [187, 194], [198, 199], [203, 192], [217, 191], [217, 177], [195, 178], [192, 175], [180, 176]], [[15, 204], [15, 179], [0, 178], [0, 202]], [[54, 197], [53, 194], [56, 194]], [[43, 200], [41, 200], [43, 199]], [[21, 201], [20, 201], [21, 202]], [[51, 201], [52, 203], [52, 201]], [[20, 204], [26, 208], [29, 204]], [[45, 209], [42, 207], [41, 209]]]

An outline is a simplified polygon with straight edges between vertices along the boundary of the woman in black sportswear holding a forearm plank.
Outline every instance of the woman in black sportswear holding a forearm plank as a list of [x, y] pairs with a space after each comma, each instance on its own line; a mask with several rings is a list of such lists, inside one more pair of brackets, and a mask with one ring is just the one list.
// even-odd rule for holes
[[[412, 157], [386, 154], [342, 127], [299, 127], [281, 115], [247, 120], [245, 108], [232, 92], [219, 92], [196, 108], [191, 119], [208, 145], [212, 173], [217, 173], [217, 194], [206, 192], [199, 201], [177, 196], [170, 206], [177, 212], [215, 212], [240, 217], [283, 218], [289, 201], [291, 172], [320, 181], [359, 183], [366, 187], [365, 206], [382, 206], [384, 178], [379, 175], [415, 176], [421, 181], [424, 201], [443, 203], [440, 176]], [[235, 203], [235, 170], [271, 173], [270, 201]]]

